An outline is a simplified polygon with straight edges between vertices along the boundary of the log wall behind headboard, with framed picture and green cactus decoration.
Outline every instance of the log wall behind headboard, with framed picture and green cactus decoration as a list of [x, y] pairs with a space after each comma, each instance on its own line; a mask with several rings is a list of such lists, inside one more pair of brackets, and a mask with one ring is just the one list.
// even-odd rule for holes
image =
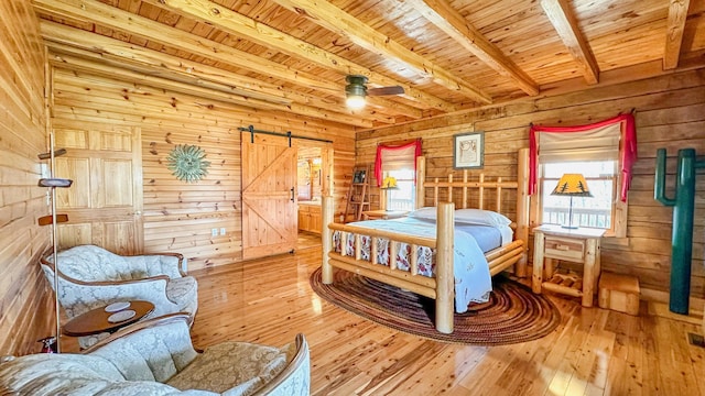
[[[634, 274], [644, 296], [665, 299], [671, 266], [672, 208], [653, 199], [657, 148], [669, 156], [669, 196], [679, 148], [693, 147], [705, 161], [705, 69], [597, 87], [587, 91], [517, 101], [358, 133], [358, 164], [371, 163], [380, 142], [423, 139], [427, 177], [445, 177], [453, 166], [453, 135], [485, 131], [485, 172], [516, 178], [516, 152], [529, 146], [529, 124], [583, 124], [634, 109], [639, 160], [629, 191], [628, 238], [605, 239], [604, 270]], [[474, 170], [473, 174], [478, 174]], [[459, 173], [456, 173], [459, 175]], [[705, 172], [697, 176], [691, 295], [705, 297]]]

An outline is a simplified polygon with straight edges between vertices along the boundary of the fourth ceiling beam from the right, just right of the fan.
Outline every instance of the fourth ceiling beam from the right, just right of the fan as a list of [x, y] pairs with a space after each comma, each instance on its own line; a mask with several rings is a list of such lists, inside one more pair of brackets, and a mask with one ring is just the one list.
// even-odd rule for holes
[[[169, 0], [171, 1], [171, 0]], [[180, 0], [185, 1], [185, 0]], [[203, 1], [203, 0], [198, 0]], [[468, 98], [480, 102], [491, 103], [492, 98], [481, 89], [457, 78], [453, 73], [445, 70], [423, 56], [405, 48], [389, 36], [376, 31], [362, 21], [346, 13], [328, 1], [317, 0], [274, 0], [278, 4], [307, 18], [336, 34], [348, 37], [352, 43], [362, 48], [404, 64], [421, 76], [431, 78], [433, 82], [453, 91], [463, 94]]]

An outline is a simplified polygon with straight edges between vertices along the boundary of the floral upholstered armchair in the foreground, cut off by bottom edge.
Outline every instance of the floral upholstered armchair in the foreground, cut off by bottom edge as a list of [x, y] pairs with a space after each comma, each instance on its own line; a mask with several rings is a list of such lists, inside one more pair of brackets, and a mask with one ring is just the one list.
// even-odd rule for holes
[[82, 354], [2, 362], [0, 389], [11, 395], [308, 395], [303, 334], [281, 349], [226, 341], [200, 353], [191, 343], [188, 320], [174, 314], [142, 321]]

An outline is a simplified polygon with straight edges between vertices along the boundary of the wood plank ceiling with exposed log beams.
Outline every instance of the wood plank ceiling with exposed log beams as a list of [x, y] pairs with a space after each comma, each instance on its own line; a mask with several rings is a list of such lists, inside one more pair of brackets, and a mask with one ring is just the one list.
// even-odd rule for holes
[[705, 0], [32, 3], [56, 64], [358, 129], [705, 65]]

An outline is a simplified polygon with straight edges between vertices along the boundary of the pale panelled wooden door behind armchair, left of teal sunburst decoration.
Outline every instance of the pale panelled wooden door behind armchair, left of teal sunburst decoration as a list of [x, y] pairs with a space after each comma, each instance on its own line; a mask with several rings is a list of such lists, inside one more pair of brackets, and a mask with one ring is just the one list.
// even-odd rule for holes
[[142, 150], [139, 128], [56, 129], [58, 248], [96, 244], [118, 254], [143, 252]]

